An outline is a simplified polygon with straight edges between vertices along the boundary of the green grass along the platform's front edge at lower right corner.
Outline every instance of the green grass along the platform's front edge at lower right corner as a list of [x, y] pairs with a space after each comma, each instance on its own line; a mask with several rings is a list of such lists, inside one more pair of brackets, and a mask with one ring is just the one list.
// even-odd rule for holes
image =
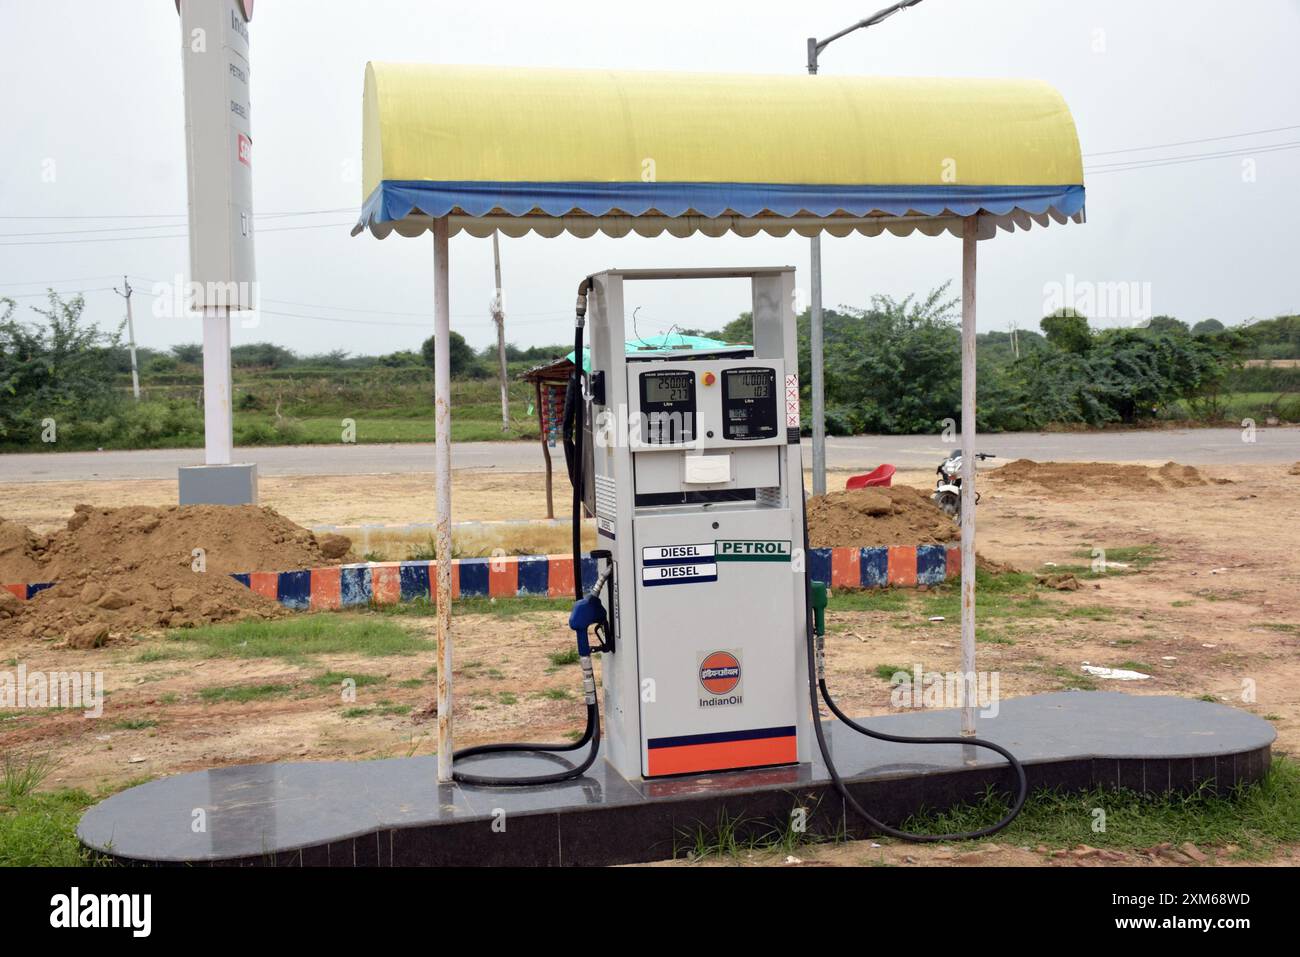
[[[1092, 830], [1093, 810], [1106, 813], [1106, 828]], [[904, 828], [918, 832], [972, 831], [992, 824], [1008, 810], [998, 796], [942, 814], [919, 814]], [[1274, 758], [1262, 781], [1217, 796], [1202, 788], [1193, 794], [1144, 796], [1132, 791], [1095, 789], [1076, 794], [1040, 791], [1005, 831], [991, 840], [1017, 845], [1069, 848], [1149, 848], [1161, 843], [1199, 846], [1235, 844], [1242, 859], [1268, 857], [1283, 844], [1300, 840], [1300, 763]]]

